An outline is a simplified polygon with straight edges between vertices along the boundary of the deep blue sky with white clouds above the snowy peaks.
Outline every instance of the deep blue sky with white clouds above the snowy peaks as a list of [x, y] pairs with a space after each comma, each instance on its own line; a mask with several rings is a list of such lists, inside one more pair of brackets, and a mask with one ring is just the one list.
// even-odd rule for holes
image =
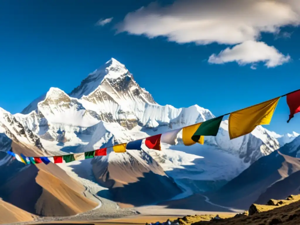
[[[237, 1], [234, 11], [203, 2], [2, 1], [0, 107], [18, 113], [50, 87], [68, 93], [111, 57], [159, 104], [215, 116], [300, 88], [297, 1]], [[267, 128], [300, 133], [300, 115], [288, 115], [283, 98]]]

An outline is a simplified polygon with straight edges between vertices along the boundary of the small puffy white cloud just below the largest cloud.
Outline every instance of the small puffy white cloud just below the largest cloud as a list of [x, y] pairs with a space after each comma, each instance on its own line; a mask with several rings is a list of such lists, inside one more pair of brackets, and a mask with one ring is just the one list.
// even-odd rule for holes
[[244, 41], [242, 44], [226, 48], [219, 54], [212, 54], [208, 62], [223, 64], [236, 61], [239, 65], [252, 64], [251, 69], [256, 69], [256, 63], [265, 62], [267, 67], [276, 67], [290, 60], [289, 55], [283, 55], [274, 46], [264, 42]]

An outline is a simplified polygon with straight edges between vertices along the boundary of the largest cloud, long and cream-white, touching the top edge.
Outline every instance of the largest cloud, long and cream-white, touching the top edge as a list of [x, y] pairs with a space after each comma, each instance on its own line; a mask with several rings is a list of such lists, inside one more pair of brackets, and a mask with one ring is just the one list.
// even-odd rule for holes
[[165, 7], [154, 2], [128, 13], [116, 29], [177, 43], [239, 44], [299, 22], [299, 0], [177, 0]]

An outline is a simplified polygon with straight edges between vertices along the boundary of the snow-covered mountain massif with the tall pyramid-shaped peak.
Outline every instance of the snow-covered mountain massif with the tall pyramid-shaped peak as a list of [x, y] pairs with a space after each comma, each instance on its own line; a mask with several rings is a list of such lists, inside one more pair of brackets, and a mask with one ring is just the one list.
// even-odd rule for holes
[[[159, 105], [137, 84], [125, 65], [113, 58], [90, 73], [69, 94], [59, 88], [50, 88], [22, 113], [11, 115], [2, 109], [0, 113], [4, 115], [0, 118], [3, 137], [34, 144], [44, 155], [91, 151], [110, 146], [108, 143], [124, 143], [214, 118], [209, 110], [198, 105], [188, 108]], [[162, 144], [161, 152], [145, 146], [144, 154], [129, 150], [128, 158], [110, 152], [104, 165], [135, 162], [132, 165], [143, 165], [147, 168], [145, 171], [156, 173], [155, 163], [149, 167], [149, 160], [153, 160], [166, 173], [160, 175], [169, 176], [188, 189], [187, 178], [191, 181], [228, 181], [280, 146], [277, 137], [261, 126], [250, 134], [229, 140], [227, 120], [221, 123], [216, 137], [205, 137], [203, 146], [184, 146], [181, 135], [182, 132], [178, 134], [175, 146]], [[7, 150], [9, 139], [1, 141], [0, 149]], [[99, 160], [103, 159], [91, 161], [94, 172], [99, 171], [95, 169]], [[134, 173], [133, 170], [134, 167], [130, 173]], [[96, 176], [98, 181], [103, 175]], [[140, 176], [142, 173], [137, 174]]]

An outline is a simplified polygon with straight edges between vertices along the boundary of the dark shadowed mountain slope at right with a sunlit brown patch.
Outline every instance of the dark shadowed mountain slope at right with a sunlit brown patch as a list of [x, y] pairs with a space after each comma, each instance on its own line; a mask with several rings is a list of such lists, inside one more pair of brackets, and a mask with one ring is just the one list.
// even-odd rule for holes
[[262, 157], [219, 190], [207, 193], [225, 206], [247, 208], [253, 202], [285, 199], [300, 193], [300, 137]]

